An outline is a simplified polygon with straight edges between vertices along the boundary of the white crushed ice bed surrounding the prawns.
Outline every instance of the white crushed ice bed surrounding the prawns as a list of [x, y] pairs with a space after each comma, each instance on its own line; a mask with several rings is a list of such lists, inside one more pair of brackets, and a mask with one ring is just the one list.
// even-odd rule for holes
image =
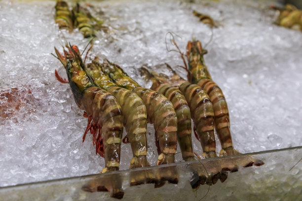
[[[62, 77], [66, 73], [50, 54], [66, 40], [81, 51], [88, 41], [78, 30], [58, 29], [54, 4], [0, 1], [0, 90], [31, 91], [23, 94], [26, 104], [20, 103], [12, 118], [0, 122], [0, 186], [98, 173], [104, 167], [91, 137], [82, 143], [87, 119], [69, 85], [55, 79], [54, 69]], [[257, 4], [224, 1], [91, 4], [95, 15], [104, 13], [101, 17], [109, 30], [97, 34], [89, 58], [106, 57], [149, 87], [138, 67], [183, 65], [178, 53], [166, 50], [165, 34], [179, 35], [176, 41], [183, 51], [192, 37], [206, 44], [211, 30], [191, 12], [210, 14], [221, 26], [213, 30], [205, 62], [226, 96], [235, 148], [248, 153], [302, 145], [302, 34], [273, 25], [270, 11]], [[175, 69], [186, 76], [181, 67]], [[0, 95], [0, 104], [5, 101]], [[148, 131], [148, 158], [154, 165], [157, 152], [151, 125]], [[196, 139], [194, 149], [201, 154]], [[130, 145], [122, 144], [122, 150], [121, 169], [126, 169], [132, 157]]]

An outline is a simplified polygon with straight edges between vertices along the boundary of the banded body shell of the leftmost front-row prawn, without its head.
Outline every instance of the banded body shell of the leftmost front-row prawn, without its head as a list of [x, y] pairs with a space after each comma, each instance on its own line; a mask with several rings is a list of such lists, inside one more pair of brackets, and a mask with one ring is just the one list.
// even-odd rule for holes
[[105, 166], [118, 170], [123, 116], [117, 100], [105, 90], [89, 87], [84, 91], [82, 106], [101, 128]]

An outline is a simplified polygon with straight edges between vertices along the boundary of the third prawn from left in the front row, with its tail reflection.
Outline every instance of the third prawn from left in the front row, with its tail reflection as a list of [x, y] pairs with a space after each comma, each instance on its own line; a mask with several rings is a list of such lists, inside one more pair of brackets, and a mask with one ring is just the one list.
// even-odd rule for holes
[[[108, 60], [102, 68], [118, 86], [135, 92], [145, 103], [148, 120], [153, 123], [155, 130], [155, 142], [159, 155], [156, 165], [174, 163], [177, 147], [177, 117], [173, 104], [162, 94], [141, 87], [119, 66]], [[155, 187], [163, 185], [164, 180], [168, 180], [170, 183], [178, 183], [175, 171], [170, 169], [169, 171], [162, 171], [159, 175], [159, 182]]]

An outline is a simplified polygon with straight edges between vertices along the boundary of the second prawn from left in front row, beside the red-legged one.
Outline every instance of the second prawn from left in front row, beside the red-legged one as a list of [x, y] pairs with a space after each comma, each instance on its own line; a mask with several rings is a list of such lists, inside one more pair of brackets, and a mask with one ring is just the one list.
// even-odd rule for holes
[[87, 65], [95, 83], [111, 93], [121, 105], [127, 135], [123, 142], [131, 144], [133, 158], [130, 168], [148, 167], [147, 161], [147, 109], [140, 97], [132, 91], [118, 87], [101, 68], [97, 59]]

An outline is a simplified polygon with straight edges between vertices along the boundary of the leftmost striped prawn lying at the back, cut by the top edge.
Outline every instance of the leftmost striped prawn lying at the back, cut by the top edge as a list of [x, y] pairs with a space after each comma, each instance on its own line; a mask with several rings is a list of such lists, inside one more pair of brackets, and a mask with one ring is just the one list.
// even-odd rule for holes
[[55, 15], [56, 24], [59, 25], [60, 29], [67, 29], [69, 30], [69, 32], [72, 32], [73, 20], [67, 2], [63, 0], [57, 0], [55, 9], [56, 9], [56, 15]]

